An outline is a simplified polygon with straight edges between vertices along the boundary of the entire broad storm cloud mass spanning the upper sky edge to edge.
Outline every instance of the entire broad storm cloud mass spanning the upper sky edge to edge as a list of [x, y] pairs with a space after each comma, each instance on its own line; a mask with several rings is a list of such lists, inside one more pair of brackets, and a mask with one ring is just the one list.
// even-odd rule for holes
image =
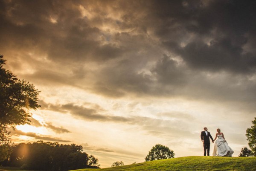
[[[255, 99], [255, 7], [236, 0], [6, 0], [0, 51], [17, 72], [32, 67], [20, 75], [38, 84], [112, 98], [242, 95], [249, 101]], [[230, 75], [211, 81], [209, 75], [222, 73]]]

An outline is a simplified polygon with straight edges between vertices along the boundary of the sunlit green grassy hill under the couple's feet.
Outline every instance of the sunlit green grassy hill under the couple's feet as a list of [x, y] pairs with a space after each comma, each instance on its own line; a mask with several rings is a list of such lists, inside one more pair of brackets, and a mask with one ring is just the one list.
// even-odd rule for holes
[[256, 157], [179, 157], [76, 171], [256, 171]]

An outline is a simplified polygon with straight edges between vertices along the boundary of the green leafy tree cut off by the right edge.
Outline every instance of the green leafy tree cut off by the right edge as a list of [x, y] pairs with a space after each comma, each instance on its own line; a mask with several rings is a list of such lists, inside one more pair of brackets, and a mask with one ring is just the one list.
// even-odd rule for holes
[[256, 117], [254, 118], [252, 123], [253, 125], [251, 126], [251, 128], [248, 128], [246, 130], [246, 136], [252, 154], [256, 157]]

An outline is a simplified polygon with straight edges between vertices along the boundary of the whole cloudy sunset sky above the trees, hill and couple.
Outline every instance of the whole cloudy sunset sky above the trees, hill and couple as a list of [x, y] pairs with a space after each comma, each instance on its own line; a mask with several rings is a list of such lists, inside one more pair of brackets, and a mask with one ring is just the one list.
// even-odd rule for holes
[[[5, 68], [40, 90], [12, 141], [82, 145], [101, 168], [161, 144], [237, 157], [256, 117], [254, 0], [0, 0]], [[211, 145], [210, 154], [213, 151]]]

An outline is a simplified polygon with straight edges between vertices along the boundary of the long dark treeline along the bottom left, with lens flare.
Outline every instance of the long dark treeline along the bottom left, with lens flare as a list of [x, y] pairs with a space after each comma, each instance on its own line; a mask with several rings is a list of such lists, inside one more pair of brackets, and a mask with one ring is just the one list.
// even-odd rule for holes
[[93, 155], [83, 152], [81, 145], [38, 141], [12, 146], [11, 156], [0, 164], [27, 170], [68, 171], [99, 168], [98, 162]]

